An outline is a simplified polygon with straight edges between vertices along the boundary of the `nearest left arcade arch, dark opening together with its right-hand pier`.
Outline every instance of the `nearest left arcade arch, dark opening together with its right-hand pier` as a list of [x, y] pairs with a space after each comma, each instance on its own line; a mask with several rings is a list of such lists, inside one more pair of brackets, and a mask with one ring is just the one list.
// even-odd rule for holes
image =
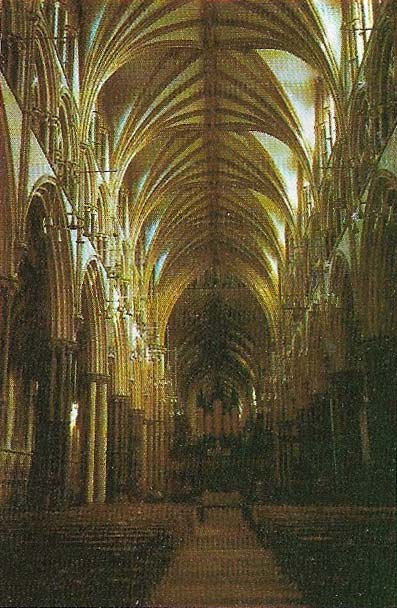
[[[12, 493], [18, 494], [19, 504], [38, 509], [56, 508], [67, 500], [72, 390], [73, 348], [57, 331], [68, 325], [65, 309], [58, 306], [60, 293], [65, 298], [72, 289], [71, 284], [58, 285], [58, 265], [68, 238], [58, 233], [57, 224], [54, 246], [48, 196], [56, 201], [51, 185], [33, 196], [26, 217], [8, 358], [6, 446], [14, 463]], [[63, 280], [69, 276], [67, 257], [64, 262]]]

